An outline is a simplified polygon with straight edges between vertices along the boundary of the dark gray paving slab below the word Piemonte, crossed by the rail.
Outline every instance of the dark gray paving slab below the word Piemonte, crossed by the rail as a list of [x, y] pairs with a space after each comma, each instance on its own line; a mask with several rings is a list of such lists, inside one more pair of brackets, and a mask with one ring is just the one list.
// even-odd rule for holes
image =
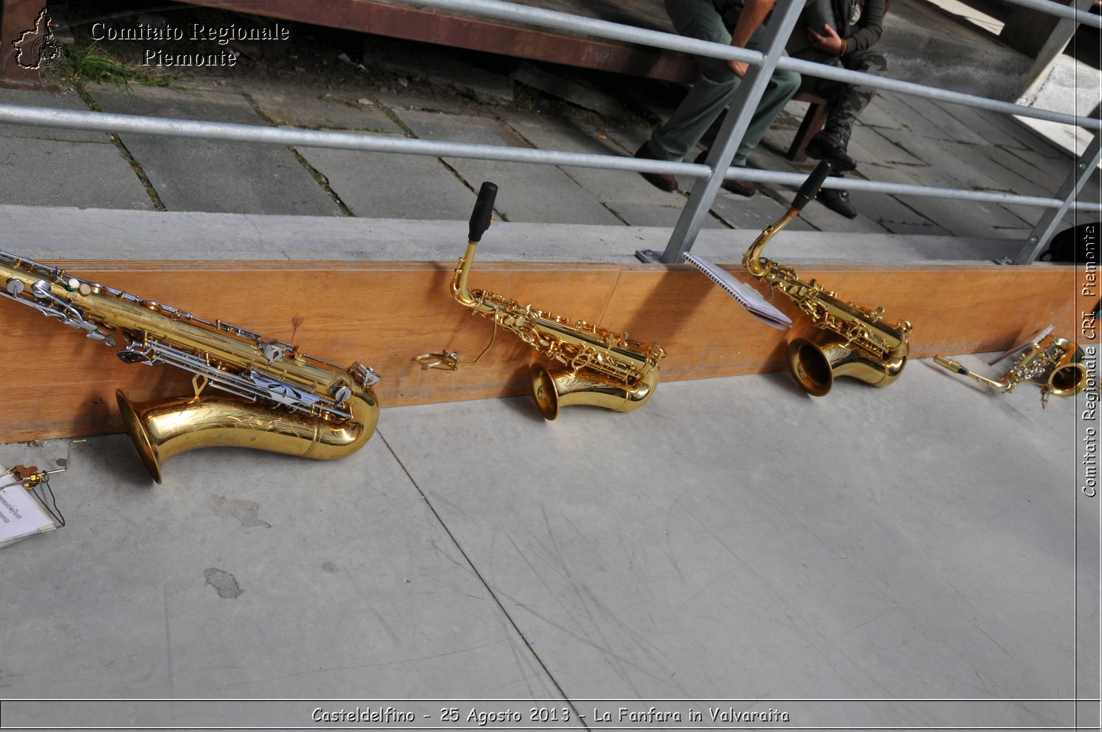
[[[107, 111], [266, 125], [237, 94], [98, 86]], [[341, 208], [284, 147], [249, 142], [121, 136], [170, 211], [339, 216]]]

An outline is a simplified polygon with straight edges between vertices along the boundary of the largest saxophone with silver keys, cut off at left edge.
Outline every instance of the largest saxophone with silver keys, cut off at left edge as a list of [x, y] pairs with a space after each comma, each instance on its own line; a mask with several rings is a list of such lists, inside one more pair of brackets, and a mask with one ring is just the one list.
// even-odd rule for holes
[[[222, 321], [142, 300], [65, 270], [0, 251], [0, 295], [121, 346], [128, 364], [194, 374], [194, 396], [131, 402], [116, 391], [127, 433], [158, 483], [161, 464], [197, 448], [237, 446], [334, 460], [375, 432], [379, 380], [361, 364], [341, 368]], [[206, 386], [233, 396], [199, 394]]]

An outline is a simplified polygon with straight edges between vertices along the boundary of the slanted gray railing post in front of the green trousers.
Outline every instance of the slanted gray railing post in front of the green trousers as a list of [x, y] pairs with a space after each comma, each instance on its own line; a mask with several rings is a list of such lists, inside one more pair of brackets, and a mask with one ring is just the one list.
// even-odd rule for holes
[[[796, 21], [803, 10], [803, 0], [780, 0], [779, 7], [774, 7], [773, 18], [758, 44], [758, 51], [764, 54], [760, 66], [752, 65], [743, 77], [742, 84], [735, 92], [734, 99], [731, 100], [731, 109], [720, 131], [712, 143], [712, 149], [707, 155], [707, 165], [712, 173], [703, 179], [696, 180], [689, 195], [689, 203], [681, 212], [673, 234], [666, 246], [666, 251], [658, 257], [656, 251], [641, 249], [636, 251], [636, 257], [642, 261], [661, 261], [665, 263], [680, 262], [681, 255], [692, 248], [700, 227], [704, 222], [704, 216], [712, 207], [715, 195], [720, 192], [727, 173], [732, 173], [731, 161], [735, 157], [735, 151], [746, 134], [749, 127], [750, 117], [757, 109], [761, 95], [765, 94], [769, 77], [777, 68], [777, 61], [785, 53], [785, 43], [796, 28]], [[782, 11], [778, 13], [778, 11]], [[779, 15], [779, 17], [778, 17]], [[737, 174], [737, 173], [732, 173]]]

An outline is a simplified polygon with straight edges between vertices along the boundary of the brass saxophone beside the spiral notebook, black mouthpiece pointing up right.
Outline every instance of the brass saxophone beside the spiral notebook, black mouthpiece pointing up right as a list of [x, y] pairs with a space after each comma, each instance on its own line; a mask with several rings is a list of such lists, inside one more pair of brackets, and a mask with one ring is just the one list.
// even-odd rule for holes
[[814, 280], [804, 282], [796, 271], [761, 257], [774, 236], [796, 218], [814, 197], [827, 174], [830, 161], [822, 161], [800, 187], [791, 207], [776, 223], [758, 235], [743, 256], [743, 267], [755, 278], [779, 290], [802, 310], [817, 327], [830, 331], [819, 343], [796, 338], [788, 344], [788, 369], [801, 389], [813, 397], [825, 396], [834, 377], [851, 376], [873, 386], [887, 386], [899, 377], [907, 364], [911, 325], [899, 321], [884, 324], [884, 309], [868, 310], [851, 300], [842, 302]]

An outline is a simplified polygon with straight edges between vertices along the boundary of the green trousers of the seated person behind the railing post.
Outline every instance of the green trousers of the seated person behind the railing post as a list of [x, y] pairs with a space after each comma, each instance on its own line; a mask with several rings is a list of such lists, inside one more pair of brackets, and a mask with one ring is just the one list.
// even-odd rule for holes
[[[713, 7], [712, 0], [666, 0], [666, 11], [681, 35], [724, 45], [731, 44], [731, 33], [724, 26], [723, 19]], [[746, 46], [757, 49], [761, 34], [763, 30], [759, 28]], [[648, 147], [658, 160], [683, 159], [731, 104], [743, 80], [722, 58], [707, 56], [693, 56], [693, 58], [700, 66], [700, 78], [673, 115], [650, 136]], [[799, 88], [799, 74], [774, 71], [765, 94], [754, 110], [749, 127], [746, 128], [746, 134], [738, 144], [733, 165], [746, 164], [750, 151], [761, 141], [769, 125]]]

